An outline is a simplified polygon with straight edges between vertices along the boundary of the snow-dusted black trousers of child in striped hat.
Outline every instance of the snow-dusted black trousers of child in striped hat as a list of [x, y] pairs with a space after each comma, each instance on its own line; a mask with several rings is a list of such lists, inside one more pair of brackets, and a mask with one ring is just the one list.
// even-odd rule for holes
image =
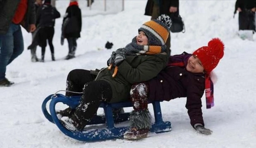
[[[76, 69], [68, 74], [67, 90], [83, 92], [78, 107], [75, 109], [75, 117], [79, 123], [86, 126], [87, 122], [97, 114], [100, 103], [109, 102], [112, 98], [111, 86], [106, 81], [93, 81], [96, 75], [89, 70]], [[66, 96], [77, 95], [67, 92]]]

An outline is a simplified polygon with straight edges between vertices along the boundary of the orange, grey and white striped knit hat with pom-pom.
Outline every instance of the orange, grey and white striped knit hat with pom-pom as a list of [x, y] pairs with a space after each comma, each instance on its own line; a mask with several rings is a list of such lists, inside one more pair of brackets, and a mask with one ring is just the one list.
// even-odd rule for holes
[[171, 24], [170, 17], [162, 14], [156, 20], [145, 22], [139, 28], [139, 32], [145, 32], [148, 45], [163, 46], [169, 36]]

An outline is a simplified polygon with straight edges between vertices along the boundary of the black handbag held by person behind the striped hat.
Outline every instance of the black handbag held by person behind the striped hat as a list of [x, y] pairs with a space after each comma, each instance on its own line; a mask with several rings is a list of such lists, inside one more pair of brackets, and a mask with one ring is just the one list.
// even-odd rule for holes
[[172, 25], [171, 25], [171, 32], [172, 33], [177, 33], [177, 32], [185, 32], [185, 25], [184, 22], [181, 18], [181, 15], [170, 15], [171, 20], [172, 20]]

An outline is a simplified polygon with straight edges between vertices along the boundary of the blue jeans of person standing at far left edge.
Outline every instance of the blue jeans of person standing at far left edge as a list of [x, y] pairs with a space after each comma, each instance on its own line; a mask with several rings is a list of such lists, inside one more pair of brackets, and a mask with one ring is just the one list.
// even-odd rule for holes
[[0, 80], [5, 79], [6, 66], [24, 50], [20, 25], [11, 23], [6, 34], [0, 34]]

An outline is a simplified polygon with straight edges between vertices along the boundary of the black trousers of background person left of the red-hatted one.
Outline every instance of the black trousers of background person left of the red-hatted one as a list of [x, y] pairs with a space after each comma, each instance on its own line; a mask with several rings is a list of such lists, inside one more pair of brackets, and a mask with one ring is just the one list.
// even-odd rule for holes
[[39, 30], [39, 46], [42, 47], [42, 56], [44, 56], [44, 53], [45, 53], [47, 40], [50, 46], [51, 53], [52, 54], [54, 53], [53, 35], [54, 35], [54, 27], [43, 27]]

